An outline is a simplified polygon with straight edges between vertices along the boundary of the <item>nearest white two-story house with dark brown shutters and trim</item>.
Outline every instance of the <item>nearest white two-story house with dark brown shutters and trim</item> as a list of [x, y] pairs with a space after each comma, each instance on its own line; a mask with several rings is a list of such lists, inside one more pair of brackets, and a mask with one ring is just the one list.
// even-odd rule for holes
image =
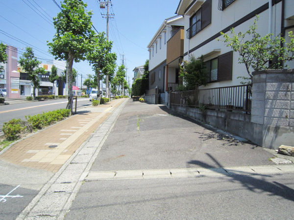
[[233, 27], [236, 33], [245, 33], [256, 15], [261, 36], [294, 30], [293, 0], [180, 0], [176, 14], [185, 20], [184, 60], [203, 55], [206, 62], [209, 84], [205, 88], [240, 85], [238, 77], [248, 76], [239, 54], [217, 40], [222, 38], [220, 32], [229, 33]]

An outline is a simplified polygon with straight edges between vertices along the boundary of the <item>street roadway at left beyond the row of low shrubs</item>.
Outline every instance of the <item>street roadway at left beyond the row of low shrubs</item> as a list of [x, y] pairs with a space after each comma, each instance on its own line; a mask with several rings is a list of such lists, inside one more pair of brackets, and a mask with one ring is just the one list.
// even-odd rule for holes
[[[0, 134], [2, 132], [2, 126], [4, 122], [7, 122], [13, 118], [25, 119], [26, 115], [40, 114], [46, 111], [52, 111], [57, 109], [66, 108], [67, 99], [60, 100], [46, 100], [42, 102], [25, 102], [14, 105], [2, 105], [0, 106]], [[75, 101], [73, 102], [73, 106]], [[80, 98], [77, 100], [77, 108], [91, 105], [89, 98]]]

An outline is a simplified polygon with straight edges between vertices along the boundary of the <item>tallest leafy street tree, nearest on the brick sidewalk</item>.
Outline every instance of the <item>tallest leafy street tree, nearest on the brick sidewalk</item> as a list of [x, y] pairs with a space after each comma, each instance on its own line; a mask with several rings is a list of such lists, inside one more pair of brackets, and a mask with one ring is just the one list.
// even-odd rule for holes
[[78, 63], [86, 59], [97, 41], [92, 28], [92, 12], [87, 12], [87, 4], [82, 0], [64, 0], [62, 11], [53, 17], [56, 34], [52, 43], [48, 43], [49, 52], [55, 59], [66, 60], [68, 64], [69, 103], [73, 105], [73, 61]]

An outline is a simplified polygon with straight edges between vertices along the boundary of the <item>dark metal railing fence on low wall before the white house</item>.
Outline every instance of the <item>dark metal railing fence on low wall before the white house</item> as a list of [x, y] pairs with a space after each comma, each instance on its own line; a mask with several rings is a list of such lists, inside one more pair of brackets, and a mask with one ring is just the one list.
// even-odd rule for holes
[[171, 92], [171, 104], [251, 112], [251, 85]]

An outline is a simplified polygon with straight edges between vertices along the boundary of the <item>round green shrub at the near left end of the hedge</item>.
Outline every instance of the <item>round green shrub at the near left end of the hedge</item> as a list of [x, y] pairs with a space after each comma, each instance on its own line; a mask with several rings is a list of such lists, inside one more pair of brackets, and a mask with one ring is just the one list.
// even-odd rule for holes
[[7, 140], [16, 140], [20, 137], [21, 132], [24, 130], [21, 123], [21, 119], [12, 119], [4, 122], [2, 131]]

